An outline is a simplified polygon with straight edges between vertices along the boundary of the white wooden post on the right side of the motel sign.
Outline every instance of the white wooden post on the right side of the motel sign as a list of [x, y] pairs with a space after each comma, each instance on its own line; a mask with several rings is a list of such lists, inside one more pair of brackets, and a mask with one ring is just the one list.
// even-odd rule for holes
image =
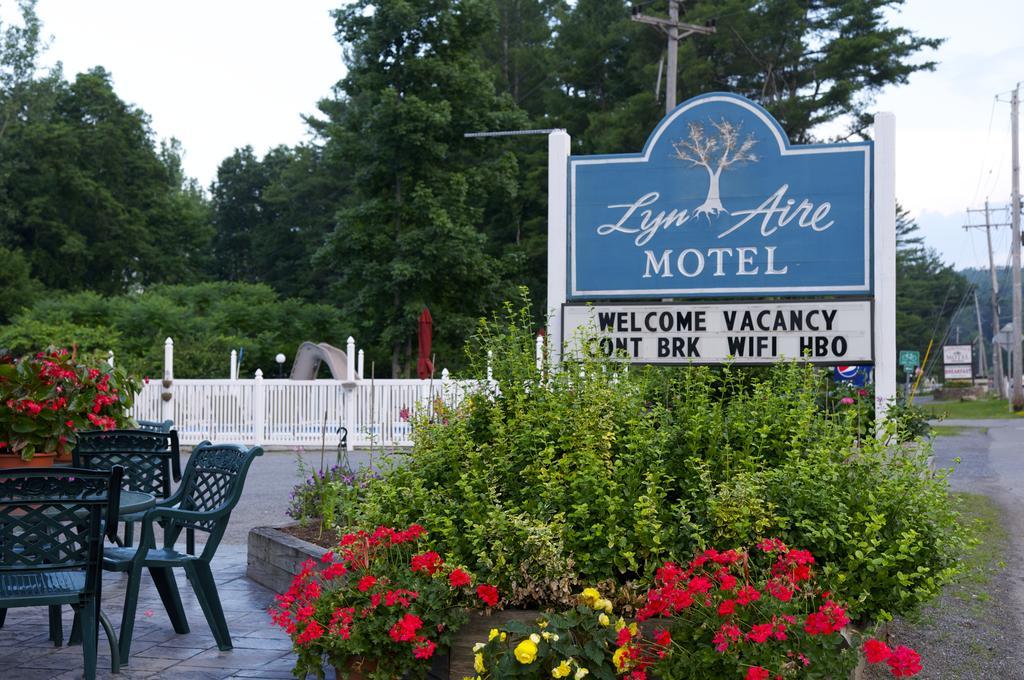
[[896, 117], [874, 116], [874, 422], [896, 396]]

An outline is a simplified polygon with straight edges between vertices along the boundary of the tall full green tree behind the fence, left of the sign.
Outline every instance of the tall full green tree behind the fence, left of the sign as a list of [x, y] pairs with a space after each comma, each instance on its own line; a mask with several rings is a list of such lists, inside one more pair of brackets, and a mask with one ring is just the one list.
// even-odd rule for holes
[[525, 120], [480, 57], [490, 10], [482, 0], [358, 0], [335, 12], [348, 73], [323, 129], [353, 178], [318, 263], [395, 377], [415, 367], [424, 306], [438, 349], [451, 349], [499, 297], [481, 206], [514, 181], [513, 159], [463, 134]]

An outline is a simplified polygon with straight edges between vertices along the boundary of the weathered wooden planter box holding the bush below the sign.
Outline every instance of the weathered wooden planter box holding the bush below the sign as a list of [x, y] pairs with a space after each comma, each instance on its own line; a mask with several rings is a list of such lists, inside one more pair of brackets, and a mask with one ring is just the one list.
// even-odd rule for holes
[[[283, 527], [257, 526], [249, 530], [249, 556], [246, 576], [275, 593], [284, 593], [302, 570], [307, 559], [319, 562], [326, 548], [297, 539], [281, 530]], [[456, 635], [447, 658], [438, 658], [430, 677], [437, 680], [473, 677], [473, 645], [486, 642], [487, 633], [510, 621], [532, 622], [540, 615], [536, 610], [495, 611], [475, 613]]]

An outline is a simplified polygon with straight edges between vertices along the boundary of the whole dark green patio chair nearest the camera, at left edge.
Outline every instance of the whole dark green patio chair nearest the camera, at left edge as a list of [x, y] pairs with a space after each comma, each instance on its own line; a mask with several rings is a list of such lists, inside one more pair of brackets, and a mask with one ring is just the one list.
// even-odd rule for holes
[[81, 621], [86, 680], [96, 677], [100, 626], [111, 671], [120, 670], [118, 639], [99, 601], [102, 535], [104, 526], [117, 529], [123, 472], [0, 470], [0, 626], [9, 608], [70, 604]]

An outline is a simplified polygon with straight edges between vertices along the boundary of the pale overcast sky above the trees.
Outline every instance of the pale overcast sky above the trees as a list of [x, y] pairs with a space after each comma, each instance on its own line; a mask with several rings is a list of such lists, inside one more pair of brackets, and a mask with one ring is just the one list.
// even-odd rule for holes
[[[5, 15], [12, 4], [0, 0]], [[238, 146], [262, 154], [306, 138], [302, 114], [343, 75], [329, 15], [338, 4], [40, 0], [38, 9], [52, 37], [46, 61], [62, 61], [69, 77], [111, 71], [118, 94], [152, 116], [159, 137], [180, 139], [186, 171], [209, 185]], [[1024, 2], [908, 0], [898, 20], [947, 41], [935, 73], [878, 100], [896, 114], [897, 197], [947, 261], [984, 265], [984, 233], [959, 226], [986, 197], [1009, 201], [1010, 105], [993, 102], [1024, 80]], [[1005, 262], [1009, 229], [995, 243]]]

